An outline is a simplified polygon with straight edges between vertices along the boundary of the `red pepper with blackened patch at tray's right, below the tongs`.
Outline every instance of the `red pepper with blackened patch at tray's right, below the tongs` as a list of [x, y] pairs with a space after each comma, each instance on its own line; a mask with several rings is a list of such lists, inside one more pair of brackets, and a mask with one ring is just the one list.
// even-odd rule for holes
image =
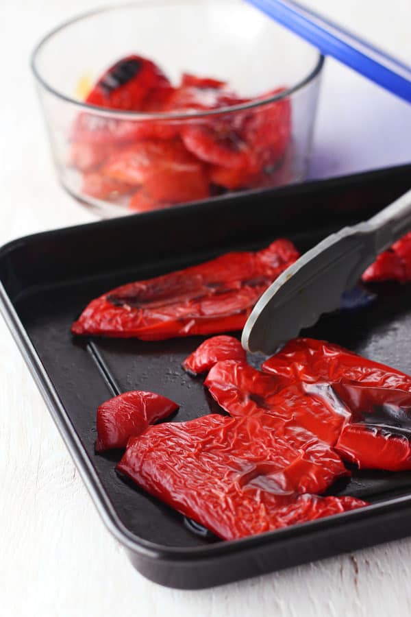
[[411, 469], [410, 376], [314, 339], [290, 341], [262, 369], [285, 388], [332, 388], [350, 414], [334, 444], [345, 460], [364, 469]]

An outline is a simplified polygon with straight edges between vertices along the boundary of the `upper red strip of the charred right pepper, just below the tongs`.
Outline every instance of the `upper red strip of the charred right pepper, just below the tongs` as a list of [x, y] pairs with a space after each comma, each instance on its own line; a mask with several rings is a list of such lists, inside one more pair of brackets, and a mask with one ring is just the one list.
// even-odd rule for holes
[[362, 358], [339, 345], [315, 339], [293, 339], [275, 356], [262, 363], [284, 385], [356, 381], [362, 385], [411, 392], [411, 377], [384, 364]]

